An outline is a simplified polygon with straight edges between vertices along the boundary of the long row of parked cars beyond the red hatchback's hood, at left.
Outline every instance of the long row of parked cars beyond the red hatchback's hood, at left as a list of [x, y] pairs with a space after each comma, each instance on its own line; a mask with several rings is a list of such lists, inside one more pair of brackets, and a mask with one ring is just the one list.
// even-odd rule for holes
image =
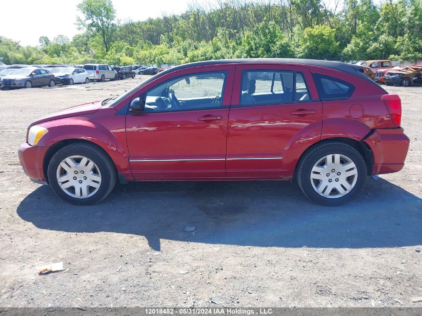
[[[136, 67], [136, 68], [134, 68]], [[136, 74], [156, 74], [163, 69], [156, 67], [124, 66], [107, 64], [85, 64], [76, 67], [65, 65], [11, 65], [0, 71], [0, 87], [32, 88], [53, 87], [56, 84], [89, 83], [90, 81], [135, 78]]]

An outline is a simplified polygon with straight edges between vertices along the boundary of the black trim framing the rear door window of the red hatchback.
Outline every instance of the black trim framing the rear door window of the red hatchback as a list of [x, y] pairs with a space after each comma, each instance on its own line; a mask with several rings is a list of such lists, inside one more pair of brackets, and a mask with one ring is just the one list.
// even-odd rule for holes
[[[248, 72], [273, 72], [273, 81], [271, 83], [271, 92], [273, 92], [273, 85], [274, 85], [274, 80], [275, 80], [275, 74], [277, 72], [292, 72], [293, 73], [293, 83], [292, 83], [292, 100], [291, 101], [286, 101], [286, 102], [279, 102], [279, 103], [272, 103], [272, 104], [232, 104], [230, 105], [230, 107], [249, 107], [249, 106], [266, 106], [266, 105], [282, 105], [282, 104], [296, 104], [296, 103], [306, 103], [306, 102], [315, 102], [315, 101], [319, 101], [318, 99], [312, 99], [311, 98], [311, 93], [309, 92], [309, 88], [308, 88], [308, 83], [306, 82], [305, 79], [305, 75], [302, 71], [296, 71], [296, 70], [283, 70], [283, 69], [243, 69], [242, 70], [242, 75], [240, 77], [240, 86], [242, 87], [242, 78], [243, 78], [243, 72], [244, 71], [248, 71]], [[308, 91], [308, 95], [309, 95], [309, 100], [296, 100], [296, 75], [297, 73], [302, 74], [302, 78], [303, 81], [305, 82], [305, 86], [306, 86], [306, 90]], [[280, 75], [280, 81], [281, 81], [281, 85], [283, 87], [283, 91], [286, 91], [286, 85], [284, 84], [284, 80], [282, 80], [281, 75]], [[239, 102], [240, 102], [240, 98], [242, 97], [242, 88], [240, 88], [240, 96], [239, 96]]]

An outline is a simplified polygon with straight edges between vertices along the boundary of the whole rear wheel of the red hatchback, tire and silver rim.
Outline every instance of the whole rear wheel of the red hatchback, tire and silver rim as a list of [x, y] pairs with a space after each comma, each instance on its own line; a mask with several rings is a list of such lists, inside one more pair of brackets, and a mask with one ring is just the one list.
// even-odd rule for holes
[[362, 155], [352, 146], [329, 142], [316, 146], [299, 161], [297, 180], [312, 201], [338, 206], [352, 200], [367, 178]]

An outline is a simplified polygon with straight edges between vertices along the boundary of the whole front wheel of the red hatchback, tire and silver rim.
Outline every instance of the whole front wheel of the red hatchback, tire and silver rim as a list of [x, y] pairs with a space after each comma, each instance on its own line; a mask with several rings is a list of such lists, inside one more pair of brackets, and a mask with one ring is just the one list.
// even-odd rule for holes
[[116, 169], [110, 157], [95, 145], [74, 143], [51, 158], [48, 181], [63, 200], [75, 205], [95, 204], [110, 194]]

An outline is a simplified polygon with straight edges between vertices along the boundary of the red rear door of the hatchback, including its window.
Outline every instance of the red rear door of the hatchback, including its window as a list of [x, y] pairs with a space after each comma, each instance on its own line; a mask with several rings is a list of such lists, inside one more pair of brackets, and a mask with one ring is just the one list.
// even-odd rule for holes
[[302, 138], [321, 136], [322, 110], [308, 68], [237, 65], [227, 132], [227, 176], [287, 176], [286, 150]]

